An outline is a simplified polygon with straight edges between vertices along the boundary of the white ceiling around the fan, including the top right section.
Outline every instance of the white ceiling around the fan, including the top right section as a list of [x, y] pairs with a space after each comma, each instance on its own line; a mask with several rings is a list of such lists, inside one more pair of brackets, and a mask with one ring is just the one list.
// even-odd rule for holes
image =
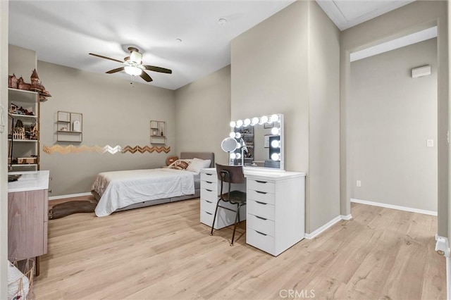
[[[171, 75], [147, 71], [154, 79], [149, 85], [178, 89], [228, 65], [233, 38], [294, 1], [10, 0], [9, 43], [35, 50], [40, 61], [94, 73], [121, 64], [89, 52], [122, 61], [126, 47], [135, 45], [144, 64], [173, 70]], [[340, 30], [412, 2], [316, 1]], [[228, 22], [221, 26], [220, 18]], [[130, 80], [124, 72], [106, 76]]]

